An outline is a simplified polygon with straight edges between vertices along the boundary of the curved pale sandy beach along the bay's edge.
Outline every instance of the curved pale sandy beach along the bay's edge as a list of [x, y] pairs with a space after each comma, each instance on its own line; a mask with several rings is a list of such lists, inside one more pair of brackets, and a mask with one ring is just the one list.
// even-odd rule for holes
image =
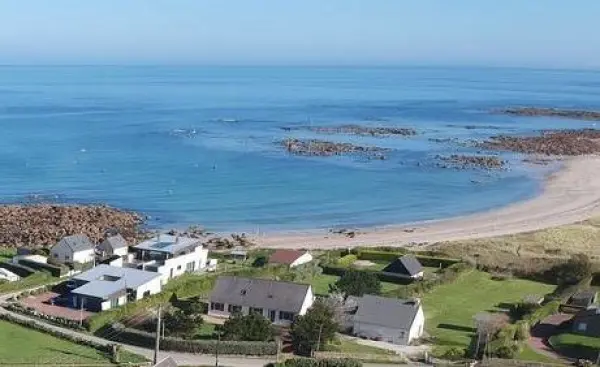
[[484, 213], [380, 228], [359, 229], [349, 238], [326, 230], [266, 233], [260, 247], [341, 248], [406, 246], [447, 240], [494, 237], [569, 224], [600, 215], [600, 157], [565, 159], [562, 169], [546, 179], [537, 197]]

